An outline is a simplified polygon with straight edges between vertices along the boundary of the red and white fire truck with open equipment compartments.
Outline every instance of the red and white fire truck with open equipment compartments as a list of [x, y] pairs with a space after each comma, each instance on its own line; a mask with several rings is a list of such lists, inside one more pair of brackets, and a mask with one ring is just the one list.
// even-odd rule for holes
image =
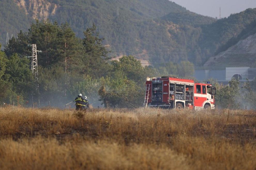
[[196, 83], [169, 76], [148, 77], [144, 107], [214, 109], [214, 95], [215, 87], [210, 82]]

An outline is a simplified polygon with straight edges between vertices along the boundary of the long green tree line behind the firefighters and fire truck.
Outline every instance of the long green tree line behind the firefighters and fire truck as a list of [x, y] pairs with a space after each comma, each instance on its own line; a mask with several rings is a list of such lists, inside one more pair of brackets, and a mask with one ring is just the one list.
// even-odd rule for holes
[[[1, 103], [17, 103], [19, 96], [21, 105], [31, 106], [31, 94], [36, 94], [41, 106], [50, 101], [62, 107], [82, 93], [94, 106], [107, 101], [109, 107], [137, 107], [143, 104], [146, 77], [193, 74], [188, 61], [143, 67], [134, 56], [112, 60], [111, 51], [102, 44], [104, 38], [99, 37], [94, 24], [84, 31], [84, 38], [78, 38], [68, 23], [49, 20], [37, 20], [27, 32], [20, 31], [0, 53]], [[37, 53], [38, 91], [33, 88], [27, 57], [32, 53], [29, 44], [41, 51]]]

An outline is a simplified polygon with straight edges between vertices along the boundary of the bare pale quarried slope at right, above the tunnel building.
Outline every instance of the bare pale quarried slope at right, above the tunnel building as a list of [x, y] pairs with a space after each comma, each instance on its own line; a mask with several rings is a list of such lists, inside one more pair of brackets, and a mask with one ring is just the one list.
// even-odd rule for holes
[[256, 58], [256, 34], [240, 40], [226, 51], [209, 58], [204, 66], [213, 65], [240, 65], [254, 66]]

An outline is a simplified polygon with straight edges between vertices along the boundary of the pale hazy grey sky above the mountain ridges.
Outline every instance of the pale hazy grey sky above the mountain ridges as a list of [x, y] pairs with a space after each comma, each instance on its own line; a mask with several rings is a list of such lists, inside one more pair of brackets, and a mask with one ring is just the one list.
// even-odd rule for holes
[[201, 15], [228, 17], [230, 14], [238, 13], [247, 8], [256, 8], [256, 0], [171, 0], [191, 12]]

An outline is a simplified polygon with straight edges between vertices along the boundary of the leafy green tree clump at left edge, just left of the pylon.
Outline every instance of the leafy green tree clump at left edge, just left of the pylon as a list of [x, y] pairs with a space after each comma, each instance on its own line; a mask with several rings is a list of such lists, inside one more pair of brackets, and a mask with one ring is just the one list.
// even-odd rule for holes
[[26, 57], [19, 57], [16, 53], [6, 57], [5, 53], [0, 51], [1, 102], [10, 103], [16, 100], [17, 96], [21, 97], [22, 102], [24, 98], [30, 97], [33, 78], [29, 63]]

